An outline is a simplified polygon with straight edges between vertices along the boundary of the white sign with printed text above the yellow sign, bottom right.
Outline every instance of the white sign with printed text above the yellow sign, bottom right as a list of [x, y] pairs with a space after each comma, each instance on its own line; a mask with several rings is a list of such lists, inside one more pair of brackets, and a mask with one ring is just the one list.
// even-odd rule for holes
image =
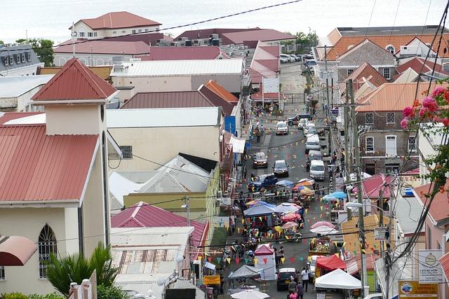
[[418, 251], [418, 278], [420, 279], [420, 284], [439, 284], [444, 282], [443, 268], [440, 263], [442, 255], [441, 250]]

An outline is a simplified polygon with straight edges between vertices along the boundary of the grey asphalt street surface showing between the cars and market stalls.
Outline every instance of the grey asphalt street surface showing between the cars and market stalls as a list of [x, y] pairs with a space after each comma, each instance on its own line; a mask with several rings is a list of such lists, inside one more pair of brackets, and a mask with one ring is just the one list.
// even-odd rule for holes
[[[287, 64], [283, 65], [281, 71], [281, 83], [284, 88], [289, 88], [288, 90], [291, 93], [299, 94], [303, 92], [302, 84], [304, 83], [304, 77], [298, 74], [298, 70], [300, 69], [299, 64]], [[284, 85], [286, 83], [286, 85]], [[289, 102], [285, 106], [286, 116], [293, 116], [296, 113], [304, 110], [304, 102], [301, 100], [295, 100], [293, 104]], [[319, 115], [320, 116], [320, 115]], [[288, 180], [290, 181], [299, 181], [300, 179], [309, 177], [309, 172], [305, 169], [305, 157], [304, 157], [304, 135], [301, 130], [297, 130], [295, 127], [290, 127], [290, 134], [285, 136], [276, 136], [274, 131], [270, 130], [274, 128], [276, 121], [278, 118], [260, 118], [261, 123], [264, 125], [267, 134], [262, 137], [259, 144], [253, 144], [253, 148], [249, 151], [249, 153], [255, 153], [257, 151], [264, 151], [268, 155], [268, 169], [253, 169], [252, 162], [253, 160], [249, 159], [247, 161], [247, 169], [248, 169], [248, 177], [250, 173], [253, 172], [257, 175], [259, 174], [267, 174], [272, 172], [272, 165], [274, 165], [275, 160], [286, 160], [287, 164], [290, 165], [290, 173]], [[327, 141], [322, 141], [323, 144], [326, 144]], [[328, 186], [328, 179], [323, 182], [318, 182], [320, 186]], [[247, 190], [243, 190], [243, 192], [247, 192]], [[311, 207], [307, 209], [307, 214], [305, 214], [306, 223], [304, 225], [304, 229], [302, 230], [303, 237], [314, 235], [309, 231], [309, 227], [311, 224], [316, 221], [320, 221], [322, 217], [323, 211], [321, 211], [320, 202], [312, 202]], [[241, 236], [233, 235], [228, 238], [227, 243], [232, 243], [234, 240], [241, 240]], [[300, 243], [284, 243], [282, 244], [285, 249], [286, 261], [284, 265], [281, 267], [295, 267], [297, 270], [302, 270], [302, 267], [307, 263], [307, 256], [309, 253], [309, 246], [307, 242]], [[281, 244], [274, 244], [279, 249]], [[232, 263], [228, 267], [229, 270], [235, 270], [240, 267], [240, 265], [234, 265]], [[254, 281], [250, 281], [253, 283]], [[257, 284], [257, 283], [255, 283]], [[287, 291], [277, 291], [276, 289], [276, 281], [269, 281], [269, 283], [260, 286], [261, 291], [265, 291], [275, 299], [283, 299], [287, 296]], [[316, 298], [314, 293], [314, 287], [309, 285], [309, 291], [304, 294], [304, 298]]]

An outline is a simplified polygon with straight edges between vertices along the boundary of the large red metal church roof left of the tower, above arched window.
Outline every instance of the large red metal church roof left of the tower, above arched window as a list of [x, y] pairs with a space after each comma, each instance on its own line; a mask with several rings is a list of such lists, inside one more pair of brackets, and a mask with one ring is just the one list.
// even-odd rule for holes
[[0, 126], [0, 201], [79, 200], [98, 135], [46, 135], [46, 125]]

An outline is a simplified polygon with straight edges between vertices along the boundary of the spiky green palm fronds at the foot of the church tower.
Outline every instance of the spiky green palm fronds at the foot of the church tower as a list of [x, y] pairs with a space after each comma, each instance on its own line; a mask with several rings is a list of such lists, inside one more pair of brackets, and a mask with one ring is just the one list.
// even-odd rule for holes
[[55, 255], [50, 256], [47, 266], [47, 279], [55, 289], [63, 295], [69, 295], [70, 283], [81, 284], [83, 279], [91, 277], [93, 270], [97, 270], [98, 286], [106, 288], [112, 286], [119, 271], [112, 266], [112, 253], [110, 246], [98, 244], [90, 259], [86, 259], [79, 254], [69, 255], [60, 258]]

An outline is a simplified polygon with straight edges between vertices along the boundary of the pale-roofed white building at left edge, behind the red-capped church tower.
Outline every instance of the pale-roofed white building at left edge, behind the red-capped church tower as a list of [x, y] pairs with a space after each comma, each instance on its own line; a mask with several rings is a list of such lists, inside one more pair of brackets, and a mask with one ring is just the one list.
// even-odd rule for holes
[[53, 75], [42, 76], [0, 76], [0, 111], [36, 111], [30, 104], [31, 98]]

